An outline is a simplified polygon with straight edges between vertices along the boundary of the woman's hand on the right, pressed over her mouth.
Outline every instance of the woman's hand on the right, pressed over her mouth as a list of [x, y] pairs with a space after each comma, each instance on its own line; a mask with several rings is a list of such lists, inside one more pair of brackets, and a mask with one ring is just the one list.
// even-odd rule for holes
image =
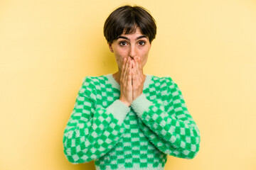
[[142, 94], [145, 77], [140, 57], [134, 57], [132, 64], [132, 101], [134, 101]]

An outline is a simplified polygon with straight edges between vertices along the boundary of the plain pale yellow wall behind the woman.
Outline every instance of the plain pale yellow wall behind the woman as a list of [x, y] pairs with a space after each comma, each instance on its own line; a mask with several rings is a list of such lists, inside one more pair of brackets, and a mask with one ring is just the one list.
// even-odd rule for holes
[[166, 170], [256, 169], [255, 0], [1, 0], [0, 169], [95, 169], [65, 159], [63, 130], [82, 78], [117, 71], [103, 24], [124, 4], [156, 19], [144, 73], [176, 81], [201, 131]]

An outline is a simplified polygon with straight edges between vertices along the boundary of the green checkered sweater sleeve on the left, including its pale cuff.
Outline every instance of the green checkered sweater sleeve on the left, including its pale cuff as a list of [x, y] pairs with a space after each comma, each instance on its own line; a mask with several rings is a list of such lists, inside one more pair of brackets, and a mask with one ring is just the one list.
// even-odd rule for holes
[[97, 94], [90, 77], [83, 79], [63, 134], [65, 157], [73, 164], [90, 162], [110, 151], [124, 132], [130, 108], [119, 100], [95, 107]]

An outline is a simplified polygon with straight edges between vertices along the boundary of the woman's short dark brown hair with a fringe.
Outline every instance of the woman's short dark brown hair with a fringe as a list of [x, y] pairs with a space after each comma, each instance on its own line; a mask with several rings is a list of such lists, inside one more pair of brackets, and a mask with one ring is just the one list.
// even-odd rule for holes
[[149, 11], [142, 6], [121, 6], [115, 9], [105, 21], [104, 36], [107, 42], [112, 43], [125, 30], [125, 34], [133, 33], [140, 28], [149, 42], [156, 37], [156, 21]]

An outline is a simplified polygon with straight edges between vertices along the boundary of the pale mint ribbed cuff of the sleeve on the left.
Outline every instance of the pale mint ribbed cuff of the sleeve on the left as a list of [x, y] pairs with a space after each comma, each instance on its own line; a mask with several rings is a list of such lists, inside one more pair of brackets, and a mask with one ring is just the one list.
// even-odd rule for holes
[[114, 115], [114, 118], [116, 118], [119, 121], [124, 121], [125, 116], [131, 108], [126, 106], [122, 101], [116, 100], [114, 101], [110, 106], [107, 107], [107, 112], [112, 113]]

